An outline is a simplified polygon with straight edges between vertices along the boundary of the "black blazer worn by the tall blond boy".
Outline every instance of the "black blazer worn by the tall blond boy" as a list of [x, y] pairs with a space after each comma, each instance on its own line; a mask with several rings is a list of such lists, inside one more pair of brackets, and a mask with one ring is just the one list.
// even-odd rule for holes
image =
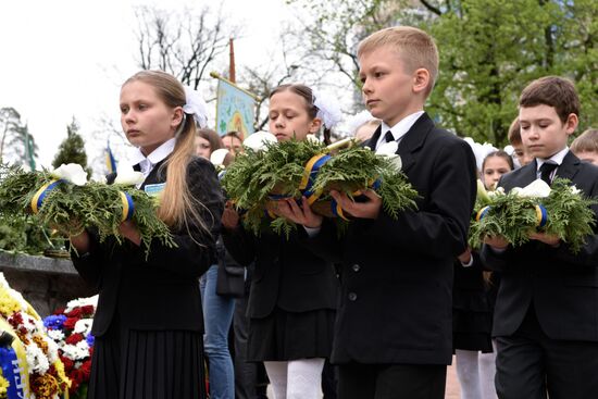
[[[374, 148], [378, 128], [367, 141]], [[470, 146], [423, 114], [397, 152], [420, 199], [394, 220], [358, 219], [341, 241], [331, 223], [309, 240], [341, 263], [336, 363], [450, 364], [452, 264], [466, 248], [475, 200]]]

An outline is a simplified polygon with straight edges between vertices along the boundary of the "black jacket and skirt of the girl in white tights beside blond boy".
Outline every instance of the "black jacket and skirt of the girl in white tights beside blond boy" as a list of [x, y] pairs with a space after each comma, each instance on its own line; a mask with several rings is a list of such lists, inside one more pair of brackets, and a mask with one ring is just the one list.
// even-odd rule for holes
[[260, 237], [223, 229], [226, 249], [242, 265], [254, 262], [247, 315], [248, 361], [329, 358], [338, 279], [333, 264], [302, 245], [299, 228]]

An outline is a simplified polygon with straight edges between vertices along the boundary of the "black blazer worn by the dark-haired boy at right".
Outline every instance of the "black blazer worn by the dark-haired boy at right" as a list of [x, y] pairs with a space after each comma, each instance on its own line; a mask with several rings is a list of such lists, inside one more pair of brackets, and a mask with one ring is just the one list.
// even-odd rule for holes
[[[536, 179], [536, 162], [511, 172], [499, 182], [507, 191]], [[598, 196], [598, 167], [580, 161], [572, 152], [563, 159], [557, 176], [569, 178], [589, 197]], [[594, 212], [598, 205], [593, 207]], [[598, 238], [587, 238], [573, 254], [566, 244], [552, 248], [539, 241], [509, 247], [497, 253], [488, 246], [483, 262], [501, 272], [495, 309], [494, 336], [509, 336], [534, 304], [544, 333], [553, 339], [598, 341]]]

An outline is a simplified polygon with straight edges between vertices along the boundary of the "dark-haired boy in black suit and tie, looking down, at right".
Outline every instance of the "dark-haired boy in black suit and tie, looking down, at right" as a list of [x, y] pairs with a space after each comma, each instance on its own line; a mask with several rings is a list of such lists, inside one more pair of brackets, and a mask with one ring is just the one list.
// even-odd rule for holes
[[[598, 167], [569, 151], [580, 100], [573, 84], [548, 76], [531, 83], [519, 103], [521, 137], [535, 161], [502, 176], [507, 191], [536, 178], [571, 180], [598, 195]], [[598, 207], [594, 207], [596, 212]], [[483, 261], [501, 272], [493, 335], [500, 398], [598, 398], [598, 240], [587, 237], [573, 254], [565, 242], [540, 233], [512, 248], [488, 237]]]

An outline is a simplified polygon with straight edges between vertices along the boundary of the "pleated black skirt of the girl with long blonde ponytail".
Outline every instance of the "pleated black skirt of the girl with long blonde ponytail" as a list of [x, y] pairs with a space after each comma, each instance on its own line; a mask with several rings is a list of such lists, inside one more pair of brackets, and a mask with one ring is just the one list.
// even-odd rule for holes
[[88, 399], [207, 398], [202, 334], [113, 324], [96, 338]]

